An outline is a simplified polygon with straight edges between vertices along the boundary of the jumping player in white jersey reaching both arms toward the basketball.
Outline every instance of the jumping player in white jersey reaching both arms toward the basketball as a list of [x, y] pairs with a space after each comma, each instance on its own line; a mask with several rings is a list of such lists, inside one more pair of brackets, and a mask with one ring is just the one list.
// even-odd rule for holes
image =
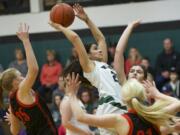
[[[75, 5], [76, 16], [84, 20], [89, 26], [98, 46], [83, 45], [80, 37], [72, 30], [63, 27], [60, 24], [50, 22], [50, 25], [56, 30], [61, 31], [73, 44], [78, 53], [78, 58], [84, 72], [84, 77], [87, 78], [93, 86], [99, 91], [99, 106], [97, 115], [109, 113], [124, 113], [126, 107], [121, 100], [121, 86], [116, 77], [116, 72], [106, 63], [107, 62], [107, 46], [105, 38], [95, 24], [90, 20], [83, 8]], [[101, 135], [112, 135], [114, 132], [100, 130]]]

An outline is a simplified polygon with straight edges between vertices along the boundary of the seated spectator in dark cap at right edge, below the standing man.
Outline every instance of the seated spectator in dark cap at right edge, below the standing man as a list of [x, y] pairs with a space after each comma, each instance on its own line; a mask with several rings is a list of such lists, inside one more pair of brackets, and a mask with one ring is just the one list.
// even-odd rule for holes
[[162, 87], [162, 92], [169, 92], [171, 96], [180, 99], [180, 81], [175, 67], [170, 70], [170, 81]]

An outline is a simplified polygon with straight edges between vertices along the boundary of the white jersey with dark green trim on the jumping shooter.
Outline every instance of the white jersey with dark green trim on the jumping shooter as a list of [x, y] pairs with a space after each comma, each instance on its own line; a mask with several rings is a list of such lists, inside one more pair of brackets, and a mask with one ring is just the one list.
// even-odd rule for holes
[[[83, 73], [93, 86], [99, 91], [100, 103], [96, 115], [102, 114], [123, 114], [126, 112], [121, 97], [121, 86], [116, 72], [104, 62], [94, 61], [94, 70], [90, 73]], [[123, 106], [123, 107], [122, 107]], [[112, 130], [99, 129], [101, 135], [116, 135]]]

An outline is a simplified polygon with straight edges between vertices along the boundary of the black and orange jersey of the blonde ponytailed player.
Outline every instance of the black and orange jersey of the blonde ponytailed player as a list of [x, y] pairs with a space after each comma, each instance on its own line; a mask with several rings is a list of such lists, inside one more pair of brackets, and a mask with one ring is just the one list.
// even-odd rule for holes
[[128, 135], [160, 135], [160, 131], [153, 124], [138, 116], [133, 110], [122, 115], [129, 123]]

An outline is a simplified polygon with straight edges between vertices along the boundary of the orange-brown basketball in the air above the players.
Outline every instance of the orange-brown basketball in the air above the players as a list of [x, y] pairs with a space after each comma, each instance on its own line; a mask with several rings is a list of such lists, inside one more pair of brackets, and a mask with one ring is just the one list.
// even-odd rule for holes
[[61, 24], [64, 27], [70, 26], [75, 18], [73, 8], [66, 4], [60, 3], [52, 7], [50, 11], [50, 19], [54, 23]]

